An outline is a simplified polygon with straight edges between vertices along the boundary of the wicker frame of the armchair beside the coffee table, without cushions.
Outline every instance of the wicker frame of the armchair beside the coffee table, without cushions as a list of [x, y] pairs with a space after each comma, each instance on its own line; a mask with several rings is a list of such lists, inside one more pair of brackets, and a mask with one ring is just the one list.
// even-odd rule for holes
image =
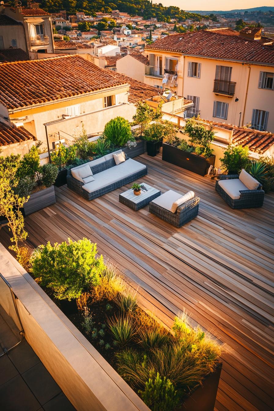
[[173, 224], [173, 226], [181, 227], [192, 220], [194, 217], [196, 217], [199, 210], [199, 203], [199, 197], [193, 197], [193, 199], [186, 201], [182, 205], [179, 205], [177, 211], [173, 213], [169, 210], [166, 210], [166, 208], [161, 207], [161, 205], [158, 205], [151, 201], [149, 210], [150, 212], [152, 212], [152, 214], [155, 214], [162, 220]]

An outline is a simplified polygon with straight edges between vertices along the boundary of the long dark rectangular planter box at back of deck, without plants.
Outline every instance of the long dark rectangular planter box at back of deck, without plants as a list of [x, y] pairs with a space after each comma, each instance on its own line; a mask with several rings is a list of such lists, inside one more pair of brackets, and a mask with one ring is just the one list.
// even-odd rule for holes
[[182, 169], [193, 171], [193, 173], [206, 175], [209, 167], [215, 164], [215, 155], [209, 158], [199, 157], [163, 143], [162, 160], [182, 167]]

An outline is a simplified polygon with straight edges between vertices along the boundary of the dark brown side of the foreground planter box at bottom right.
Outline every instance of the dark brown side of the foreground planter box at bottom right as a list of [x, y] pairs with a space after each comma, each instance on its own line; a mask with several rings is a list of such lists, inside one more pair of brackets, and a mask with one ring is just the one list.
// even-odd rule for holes
[[178, 411], [214, 411], [222, 365], [220, 362], [215, 371], [205, 377], [203, 386], [193, 390]]

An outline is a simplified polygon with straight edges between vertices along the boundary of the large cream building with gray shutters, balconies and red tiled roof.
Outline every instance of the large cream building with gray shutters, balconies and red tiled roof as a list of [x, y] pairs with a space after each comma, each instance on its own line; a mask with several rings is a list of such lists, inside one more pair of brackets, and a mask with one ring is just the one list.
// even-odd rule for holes
[[145, 49], [144, 82], [193, 100], [186, 117], [274, 132], [274, 48], [254, 31], [252, 37], [200, 30], [158, 40]]

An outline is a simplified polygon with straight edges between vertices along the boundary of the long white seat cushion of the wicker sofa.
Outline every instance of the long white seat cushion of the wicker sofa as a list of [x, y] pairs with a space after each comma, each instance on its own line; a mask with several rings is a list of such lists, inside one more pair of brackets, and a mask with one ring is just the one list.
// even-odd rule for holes
[[[145, 165], [130, 158], [117, 166], [101, 171], [101, 173], [93, 174], [92, 177], [94, 178], [94, 181], [83, 185], [82, 188], [87, 192], [92, 193], [120, 181], [123, 178], [129, 177], [132, 174], [138, 173], [138, 171], [143, 169], [145, 169]], [[181, 196], [181, 194], [179, 194], [179, 196]]]

